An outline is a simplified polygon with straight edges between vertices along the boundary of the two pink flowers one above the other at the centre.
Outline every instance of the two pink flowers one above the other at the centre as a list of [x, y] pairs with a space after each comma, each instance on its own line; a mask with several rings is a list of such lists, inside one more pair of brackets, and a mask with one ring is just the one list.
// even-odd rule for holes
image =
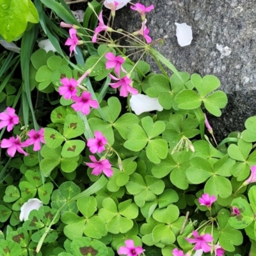
[[[106, 137], [100, 131], [94, 132], [95, 138], [90, 138], [87, 142], [90, 152], [93, 154], [101, 153], [105, 150], [105, 145], [108, 143]], [[87, 166], [93, 168], [93, 175], [100, 175], [102, 172], [107, 176], [111, 177], [113, 175], [113, 170], [111, 169], [111, 163], [105, 157], [101, 157], [99, 161], [95, 156], [90, 156], [92, 163], [86, 163]]]

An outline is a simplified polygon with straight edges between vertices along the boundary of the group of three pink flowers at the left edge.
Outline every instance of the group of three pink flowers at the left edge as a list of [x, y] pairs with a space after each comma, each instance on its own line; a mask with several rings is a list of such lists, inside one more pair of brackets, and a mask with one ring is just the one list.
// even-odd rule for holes
[[[19, 124], [19, 116], [15, 114], [15, 109], [7, 108], [6, 111], [0, 113], [0, 129], [7, 127], [7, 131], [10, 132], [13, 129], [13, 126]], [[7, 148], [7, 154], [11, 157], [14, 157], [15, 153], [18, 151], [20, 154], [28, 156], [28, 153], [24, 151], [25, 147], [34, 145], [33, 150], [38, 151], [41, 148], [40, 143], [45, 143], [44, 141], [44, 128], [41, 128], [39, 131], [31, 129], [31, 131], [26, 134], [29, 138], [26, 141], [20, 141], [20, 137], [17, 135], [9, 139], [3, 139], [1, 141], [0, 147]]]

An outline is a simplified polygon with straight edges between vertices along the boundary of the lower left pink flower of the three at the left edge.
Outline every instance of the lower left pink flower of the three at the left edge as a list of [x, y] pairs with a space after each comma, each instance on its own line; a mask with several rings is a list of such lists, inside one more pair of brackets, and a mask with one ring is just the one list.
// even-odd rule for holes
[[13, 157], [18, 151], [20, 154], [28, 156], [28, 153], [25, 152], [21, 147], [27, 147], [26, 142], [20, 142], [19, 136], [15, 139], [11, 137], [9, 140], [3, 139], [0, 145], [1, 148], [7, 148], [7, 153], [9, 156]]

